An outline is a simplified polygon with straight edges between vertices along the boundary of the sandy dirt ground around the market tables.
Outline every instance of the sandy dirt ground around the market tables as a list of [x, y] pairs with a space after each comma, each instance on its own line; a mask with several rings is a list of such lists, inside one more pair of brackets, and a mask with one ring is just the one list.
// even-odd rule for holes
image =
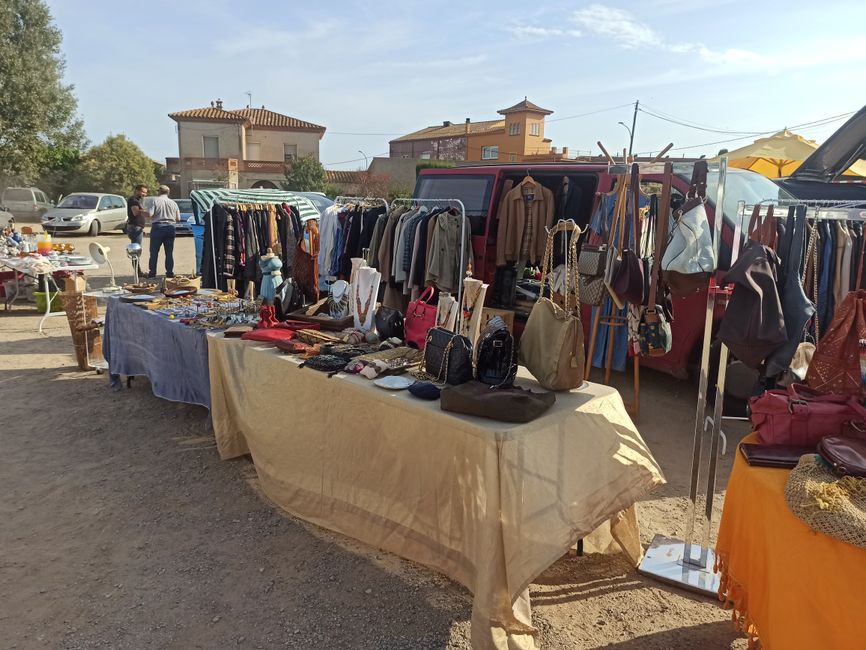
[[[126, 273], [124, 239], [100, 240]], [[192, 241], [177, 249], [186, 270]], [[248, 459], [219, 460], [205, 409], [144, 379], [112, 393], [77, 370], [64, 318], [45, 337], [37, 324], [32, 307], [0, 313], [2, 647], [469, 648], [461, 587], [283, 514]], [[669, 481], [639, 504], [648, 543], [683, 533], [694, 387], [642, 385], [640, 430]], [[543, 648], [745, 647], [715, 602], [617, 557], [563, 558], [531, 592]]]

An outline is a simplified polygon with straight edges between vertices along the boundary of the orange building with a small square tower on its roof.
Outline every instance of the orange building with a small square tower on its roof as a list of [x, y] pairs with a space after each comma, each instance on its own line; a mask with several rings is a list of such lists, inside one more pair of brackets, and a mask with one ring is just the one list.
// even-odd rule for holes
[[467, 117], [463, 124], [445, 121], [442, 126], [428, 126], [391, 140], [390, 157], [525, 162], [555, 153], [544, 137], [544, 118], [553, 111], [524, 97], [497, 113], [502, 119], [472, 122]]

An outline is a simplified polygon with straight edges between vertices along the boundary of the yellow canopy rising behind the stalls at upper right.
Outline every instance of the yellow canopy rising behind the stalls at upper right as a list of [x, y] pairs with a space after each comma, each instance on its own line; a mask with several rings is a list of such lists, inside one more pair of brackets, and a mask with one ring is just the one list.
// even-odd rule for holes
[[[816, 149], [818, 144], [814, 140], [807, 140], [783, 129], [775, 135], [759, 138], [752, 144], [729, 151], [725, 155], [731, 167], [749, 169], [768, 178], [783, 178], [794, 173]], [[712, 161], [718, 159], [719, 156], [716, 156]], [[866, 163], [855, 162], [845, 173], [850, 176], [866, 176]]]

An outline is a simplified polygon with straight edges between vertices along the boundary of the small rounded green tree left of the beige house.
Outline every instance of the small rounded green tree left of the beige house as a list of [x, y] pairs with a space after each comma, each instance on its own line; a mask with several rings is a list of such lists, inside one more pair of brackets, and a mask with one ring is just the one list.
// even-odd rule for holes
[[129, 196], [139, 183], [156, 189], [154, 162], [123, 134], [107, 137], [81, 159], [79, 190]]

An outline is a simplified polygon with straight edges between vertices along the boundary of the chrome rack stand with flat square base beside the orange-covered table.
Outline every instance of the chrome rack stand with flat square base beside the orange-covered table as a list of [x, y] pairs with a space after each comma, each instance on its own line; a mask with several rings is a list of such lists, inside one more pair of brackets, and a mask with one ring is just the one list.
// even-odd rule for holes
[[[728, 159], [722, 156], [719, 162], [719, 183], [716, 193], [716, 213], [713, 220], [713, 250], [715, 259], [719, 259], [719, 246], [722, 239], [722, 206], [725, 199], [725, 182], [727, 180]], [[689, 510], [687, 516], [687, 532], [684, 540], [678, 540], [665, 535], [656, 535], [647, 549], [638, 571], [644, 575], [656, 578], [669, 584], [697, 591], [705, 595], [717, 596], [719, 591], [719, 576], [714, 573], [715, 553], [709, 547], [710, 528], [713, 520], [713, 496], [716, 487], [716, 464], [719, 457], [719, 440], [721, 438], [722, 405], [725, 397], [725, 373], [728, 362], [728, 347], [722, 345], [719, 354], [719, 372], [716, 380], [716, 400], [713, 409], [713, 426], [710, 439], [710, 458], [707, 468], [707, 487], [704, 512], [699, 515], [698, 484], [700, 483], [702, 452], [706, 435], [707, 389], [709, 386], [710, 346], [713, 333], [713, 313], [716, 298], [726, 298], [730, 290], [716, 283], [716, 276], [710, 278], [707, 289], [707, 311], [704, 318], [704, 343], [701, 353], [701, 374], [698, 384], [698, 402], [695, 413], [694, 445], [692, 448], [692, 469], [689, 486]], [[700, 516], [700, 522], [698, 517]], [[695, 543], [695, 528], [699, 528], [699, 542]]]

